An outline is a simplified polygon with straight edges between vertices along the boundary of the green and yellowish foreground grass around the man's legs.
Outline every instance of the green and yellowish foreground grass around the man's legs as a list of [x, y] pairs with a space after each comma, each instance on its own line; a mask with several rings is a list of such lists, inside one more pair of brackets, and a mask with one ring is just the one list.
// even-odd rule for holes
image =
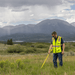
[[75, 56], [63, 57], [63, 66], [55, 69], [50, 55], [41, 69], [47, 55], [0, 56], [0, 75], [75, 75]]

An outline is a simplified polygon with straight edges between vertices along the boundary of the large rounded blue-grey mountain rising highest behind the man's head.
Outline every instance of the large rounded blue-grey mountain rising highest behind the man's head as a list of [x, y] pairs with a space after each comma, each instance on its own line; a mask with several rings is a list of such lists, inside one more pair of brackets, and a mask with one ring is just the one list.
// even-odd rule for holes
[[66, 21], [52, 19], [44, 20], [36, 25], [38, 33], [51, 34], [53, 31], [56, 31], [59, 35], [63, 34], [74, 34], [75, 27], [69, 24]]

